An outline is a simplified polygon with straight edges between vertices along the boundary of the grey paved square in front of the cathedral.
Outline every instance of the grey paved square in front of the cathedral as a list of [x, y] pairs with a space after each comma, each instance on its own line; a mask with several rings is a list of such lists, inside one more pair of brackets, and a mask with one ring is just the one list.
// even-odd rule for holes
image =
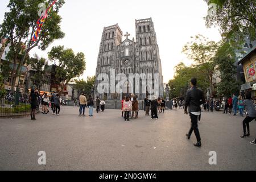
[[[88, 109], [86, 114], [88, 115]], [[203, 146], [187, 140], [190, 122], [183, 110], [167, 110], [158, 121], [139, 111], [124, 122], [120, 110], [78, 117], [78, 108], [61, 107], [60, 116], [0, 119], [0, 170], [256, 170], [256, 122], [242, 139], [242, 117], [203, 113]], [[38, 152], [46, 152], [46, 166]], [[208, 163], [217, 152], [217, 165]]]

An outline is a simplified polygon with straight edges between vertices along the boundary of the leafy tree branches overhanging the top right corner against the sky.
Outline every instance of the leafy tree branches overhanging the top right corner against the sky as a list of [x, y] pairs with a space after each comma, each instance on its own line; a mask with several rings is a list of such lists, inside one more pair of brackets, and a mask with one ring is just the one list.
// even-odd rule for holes
[[[204, 0], [208, 5], [216, 4], [216, 13], [207, 15], [207, 27], [218, 26], [224, 38], [232, 46], [240, 46], [245, 36], [256, 39], [256, 1], [255, 0]], [[239, 41], [238, 41], [239, 40]]]

